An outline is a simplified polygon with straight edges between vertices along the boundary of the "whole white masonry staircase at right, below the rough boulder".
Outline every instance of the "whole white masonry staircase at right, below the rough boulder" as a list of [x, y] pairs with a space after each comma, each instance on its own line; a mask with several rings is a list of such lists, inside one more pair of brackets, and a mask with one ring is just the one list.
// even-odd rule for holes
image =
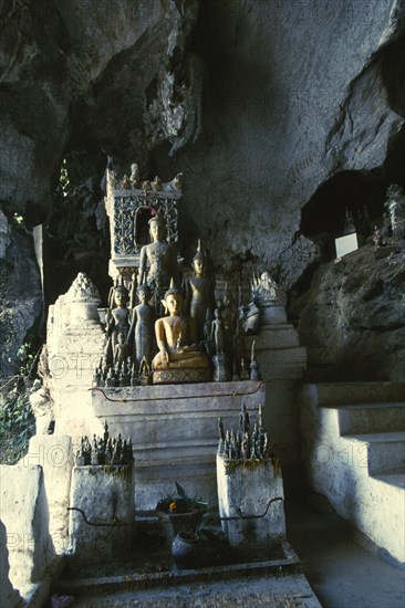
[[405, 382], [305, 385], [309, 480], [336, 512], [405, 562]]

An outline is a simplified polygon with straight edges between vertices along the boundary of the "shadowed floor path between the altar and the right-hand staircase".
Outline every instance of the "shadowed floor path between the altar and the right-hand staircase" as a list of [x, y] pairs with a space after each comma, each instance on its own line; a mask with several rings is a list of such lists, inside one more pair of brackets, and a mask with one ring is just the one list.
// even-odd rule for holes
[[339, 517], [323, 496], [289, 502], [285, 515], [288, 539], [323, 608], [404, 608], [404, 567]]

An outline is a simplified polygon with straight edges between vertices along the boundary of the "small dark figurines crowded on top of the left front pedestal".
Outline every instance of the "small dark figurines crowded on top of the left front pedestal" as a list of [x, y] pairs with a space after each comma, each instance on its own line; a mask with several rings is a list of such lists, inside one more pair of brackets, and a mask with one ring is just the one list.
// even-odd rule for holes
[[80, 450], [76, 453], [77, 467], [131, 464], [134, 460], [131, 439], [111, 438], [108, 424], [105, 421], [103, 437], [82, 437]]

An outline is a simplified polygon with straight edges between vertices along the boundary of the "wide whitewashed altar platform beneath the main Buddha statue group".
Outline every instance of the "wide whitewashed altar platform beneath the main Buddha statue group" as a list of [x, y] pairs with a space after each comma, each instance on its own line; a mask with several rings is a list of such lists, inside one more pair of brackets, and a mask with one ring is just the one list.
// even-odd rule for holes
[[112, 437], [133, 442], [135, 509], [154, 509], [175, 481], [187, 494], [217, 505], [218, 417], [235, 428], [245, 403], [251, 420], [266, 405], [266, 382], [207, 382], [131, 388], [94, 388], [95, 418]]

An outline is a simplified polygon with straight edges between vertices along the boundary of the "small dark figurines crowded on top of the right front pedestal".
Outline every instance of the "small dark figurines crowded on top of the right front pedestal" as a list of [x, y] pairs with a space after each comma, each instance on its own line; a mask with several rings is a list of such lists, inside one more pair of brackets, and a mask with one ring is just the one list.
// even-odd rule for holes
[[269, 434], [263, 426], [262, 410], [259, 406], [257, 421], [251, 424], [249, 412], [242, 403], [239, 415], [239, 428], [235, 431], [224, 430], [221, 418], [218, 418], [218, 453], [228, 460], [263, 460], [273, 458]]

